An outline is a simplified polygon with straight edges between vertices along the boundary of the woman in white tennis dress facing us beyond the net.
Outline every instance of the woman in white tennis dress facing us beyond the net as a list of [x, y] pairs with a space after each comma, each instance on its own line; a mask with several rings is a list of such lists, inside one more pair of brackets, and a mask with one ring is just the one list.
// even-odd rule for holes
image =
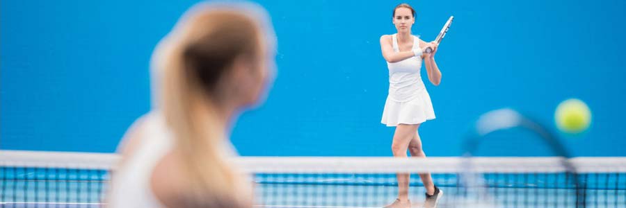
[[[392, 143], [394, 157], [407, 157], [407, 149], [411, 157], [426, 157], [417, 129], [424, 121], [435, 119], [435, 111], [422, 82], [420, 69], [424, 62], [428, 80], [435, 86], [440, 84], [441, 71], [434, 58], [437, 44], [424, 42], [411, 34], [411, 26], [415, 24], [415, 10], [408, 4], [396, 6], [392, 17], [398, 32], [380, 37], [380, 48], [389, 67], [389, 95], [381, 122], [396, 127]], [[434, 49], [432, 53], [423, 52], [428, 46]], [[410, 176], [403, 173], [397, 174], [397, 177], [398, 198], [387, 207], [410, 207]], [[436, 207], [443, 192], [435, 186], [430, 173], [421, 173], [419, 177], [426, 188], [424, 207]]]

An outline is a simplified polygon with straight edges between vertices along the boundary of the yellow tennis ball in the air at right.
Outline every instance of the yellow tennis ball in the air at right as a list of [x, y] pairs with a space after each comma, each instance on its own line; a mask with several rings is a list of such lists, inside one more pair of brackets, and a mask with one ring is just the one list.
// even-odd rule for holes
[[556, 107], [554, 121], [559, 130], [568, 133], [579, 133], [586, 130], [591, 123], [589, 107], [579, 99], [568, 99]]

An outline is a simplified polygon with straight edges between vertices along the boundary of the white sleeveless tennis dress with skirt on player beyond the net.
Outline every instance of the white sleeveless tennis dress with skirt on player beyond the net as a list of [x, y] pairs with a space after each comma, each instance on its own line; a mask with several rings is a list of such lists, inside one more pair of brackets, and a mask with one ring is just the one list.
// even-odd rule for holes
[[[394, 52], [399, 52], [398, 38], [392, 35]], [[413, 36], [413, 48], [419, 49], [419, 38]], [[399, 62], [387, 62], [389, 68], [389, 95], [385, 101], [383, 120], [387, 126], [417, 124], [435, 119], [431, 96], [426, 92], [419, 69], [422, 58], [411, 57]]]

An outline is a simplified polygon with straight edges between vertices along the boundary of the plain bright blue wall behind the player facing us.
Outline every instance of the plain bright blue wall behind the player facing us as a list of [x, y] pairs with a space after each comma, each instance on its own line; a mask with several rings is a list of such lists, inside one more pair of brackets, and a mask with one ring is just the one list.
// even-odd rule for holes
[[[150, 109], [152, 49], [197, 1], [1, 1], [0, 148], [113, 152]], [[278, 77], [268, 101], [241, 116], [242, 155], [391, 155], [380, 124], [387, 68], [379, 38], [395, 33], [400, 1], [259, 1], [278, 35]], [[456, 19], [426, 83], [437, 119], [420, 128], [428, 155], [460, 155], [480, 114], [514, 107], [549, 123], [566, 98], [593, 111], [582, 135], [561, 135], [575, 155], [626, 156], [626, 2], [408, 1], [413, 33], [433, 40]], [[426, 80], [426, 73], [422, 71]], [[523, 133], [522, 133], [523, 135]], [[515, 132], [503, 137], [535, 153]], [[489, 150], [488, 150], [489, 152]]]

